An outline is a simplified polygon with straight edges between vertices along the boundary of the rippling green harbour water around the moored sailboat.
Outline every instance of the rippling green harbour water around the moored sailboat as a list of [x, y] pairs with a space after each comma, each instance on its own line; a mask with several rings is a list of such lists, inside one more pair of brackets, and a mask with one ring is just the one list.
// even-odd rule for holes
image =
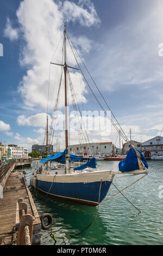
[[[139, 212], [118, 194], [99, 206], [96, 221], [77, 236], [75, 234], [95, 218], [97, 207], [33, 193], [39, 215], [48, 212], [53, 216], [53, 233], [57, 245], [162, 245], [163, 198], [159, 198], [159, 186], [163, 185], [163, 161], [150, 161], [148, 164], [148, 175], [123, 192], [141, 213], [138, 215]], [[102, 161], [98, 162], [98, 166], [101, 170], [117, 170], [118, 162]], [[28, 184], [34, 167], [35, 162], [32, 168], [24, 169]], [[120, 189], [137, 177], [140, 176], [115, 179], [114, 183]], [[106, 198], [115, 192], [111, 185]], [[42, 230], [41, 245], [53, 244], [49, 230]]]

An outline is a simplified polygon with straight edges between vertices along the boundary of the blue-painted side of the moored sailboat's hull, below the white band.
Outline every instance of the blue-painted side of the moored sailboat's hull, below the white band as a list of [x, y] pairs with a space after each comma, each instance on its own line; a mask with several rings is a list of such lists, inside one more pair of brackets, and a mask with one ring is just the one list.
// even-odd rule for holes
[[[37, 180], [37, 189], [53, 197], [71, 200], [80, 204], [96, 206], [102, 202], [110, 188], [112, 181], [91, 183], [60, 183]], [[101, 190], [100, 190], [101, 186]], [[100, 191], [100, 199], [99, 199]]]

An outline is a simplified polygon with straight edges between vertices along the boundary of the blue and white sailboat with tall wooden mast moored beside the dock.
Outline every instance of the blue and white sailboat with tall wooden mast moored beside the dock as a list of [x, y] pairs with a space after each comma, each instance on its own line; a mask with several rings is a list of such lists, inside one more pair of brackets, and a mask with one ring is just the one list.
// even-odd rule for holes
[[[71, 165], [71, 162], [73, 163], [75, 160], [80, 160], [81, 157], [68, 152], [67, 72], [68, 68], [71, 67], [68, 66], [66, 59], [67, 38], [69, 39], [69, 35], [65, 27], [63, 44], [64, 63], [51, 63], [61, 66], [65, 76], [65, 150], [57, 154], [49, 154], [46, 159], [40, 160], [41, 166], [36, 166], [35, 172], [30, 178], [30, 185], [46, 195], [55, 198], [71, 200], [89, 206], [97, 206], [102, 203], [106, 197], [115, 175], [128, 174], [129, 176], [135, 176], [147, 174], [148, 165], [142, 153], [137, 151], [134, 147], [131, 147], [129, 156], [124, 160], [125, 162], [122, 161], [119, 164], [120, 170], [117, 171], [98, 170], [96, 158], [93, 156], [87, 163], [82, 164], [82, 166], [73, 167]], [[48, 126], [46, 134], [48, 144]], [[80, 140], [82, 139], [80, 138]]]

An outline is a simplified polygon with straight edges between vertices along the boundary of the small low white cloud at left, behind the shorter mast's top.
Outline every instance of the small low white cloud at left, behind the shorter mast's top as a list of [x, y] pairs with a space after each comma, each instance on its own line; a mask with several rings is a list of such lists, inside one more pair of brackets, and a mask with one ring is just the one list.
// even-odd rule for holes
[[[34, 126], [34, 127], [45, 127], [46, 125], [46, 113], [39, 113], [33, 116], [18, 116], [17, 124], [18, 126]], [[48, 115], [49, 123], [51, 123], [51, 117]]]

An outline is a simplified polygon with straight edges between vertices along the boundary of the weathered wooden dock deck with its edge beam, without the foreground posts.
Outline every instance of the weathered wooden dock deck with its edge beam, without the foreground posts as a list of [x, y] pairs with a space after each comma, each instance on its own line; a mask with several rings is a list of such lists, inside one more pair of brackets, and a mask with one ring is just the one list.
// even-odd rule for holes
[[[12, 166], [13, 169], [13, 166]], [[1, 172], [2, 170], [0, 170]], [[9, 177], [7, 177], [9, 176]], [[5, 180], [5, 182], [4, 182]], [[33, 217], [32, 245], [40, 245], [41, 221], [22, 172], [8, 171], [3, 177], [3, 198], [0, 198], [0, 245], [17, 245], [18, 199], [27, 204], [27, 213]]]

